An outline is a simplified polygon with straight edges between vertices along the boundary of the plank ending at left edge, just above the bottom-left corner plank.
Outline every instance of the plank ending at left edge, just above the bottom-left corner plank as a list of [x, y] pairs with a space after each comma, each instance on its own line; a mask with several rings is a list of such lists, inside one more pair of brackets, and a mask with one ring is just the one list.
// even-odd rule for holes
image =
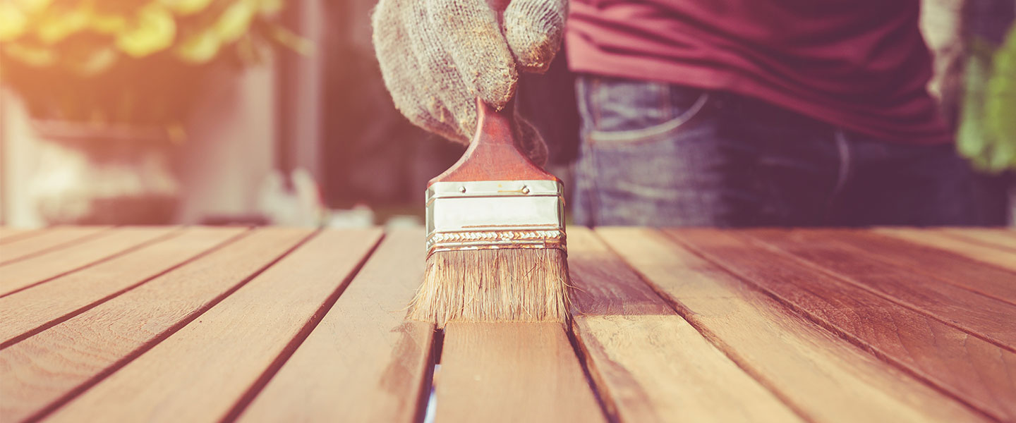
[[235, 237], [244, 228], [192, 228], [162, 242], [0, 297], [0, 348], [87, 308]]

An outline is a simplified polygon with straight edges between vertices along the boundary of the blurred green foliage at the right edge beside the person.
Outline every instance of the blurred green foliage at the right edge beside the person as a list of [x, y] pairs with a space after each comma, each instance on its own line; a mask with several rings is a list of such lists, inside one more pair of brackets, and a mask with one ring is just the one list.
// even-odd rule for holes
[[977, 168], [1016, 169], [1016, 25], [998, 49], [974, 41], [957, 143]]

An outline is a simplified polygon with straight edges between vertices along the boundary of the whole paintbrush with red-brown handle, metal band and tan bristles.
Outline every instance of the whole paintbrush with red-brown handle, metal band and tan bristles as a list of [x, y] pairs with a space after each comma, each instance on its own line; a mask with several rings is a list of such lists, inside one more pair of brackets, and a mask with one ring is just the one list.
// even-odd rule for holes
[[513, 103], [477, 100], [462, 158], [427, 187], [427, 266], [409, 316], [563, 322], [568, 304], [564, 190], [512, 133]]

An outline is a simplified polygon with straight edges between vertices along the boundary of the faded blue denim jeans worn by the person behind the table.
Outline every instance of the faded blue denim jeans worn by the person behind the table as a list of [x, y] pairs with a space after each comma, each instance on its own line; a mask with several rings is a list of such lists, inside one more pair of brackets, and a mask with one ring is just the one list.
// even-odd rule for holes
[[764, 101], [580, 75], [582, 225], [965, 225], [953, 145], [883, 142]]

